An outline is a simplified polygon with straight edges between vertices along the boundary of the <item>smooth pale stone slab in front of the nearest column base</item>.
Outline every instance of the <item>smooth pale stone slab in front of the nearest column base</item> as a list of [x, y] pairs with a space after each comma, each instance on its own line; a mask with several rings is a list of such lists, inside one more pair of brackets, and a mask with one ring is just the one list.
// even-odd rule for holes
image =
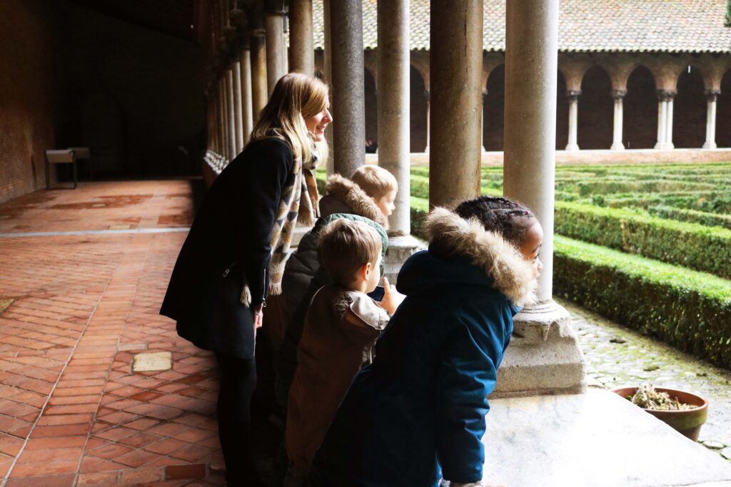
[[731, 464], [604, 389], [493, 399], [482, 441], [510, 487], [731, 485]]

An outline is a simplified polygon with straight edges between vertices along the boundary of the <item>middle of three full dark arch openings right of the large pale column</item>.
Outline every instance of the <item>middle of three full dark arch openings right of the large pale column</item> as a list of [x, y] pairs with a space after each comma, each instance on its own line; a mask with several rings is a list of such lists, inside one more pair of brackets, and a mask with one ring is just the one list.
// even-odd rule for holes
[[627, 149], [651, 149], [657, 142], [655, 77], [642, 64], [632, 69], [627, 78], [623, 139]]

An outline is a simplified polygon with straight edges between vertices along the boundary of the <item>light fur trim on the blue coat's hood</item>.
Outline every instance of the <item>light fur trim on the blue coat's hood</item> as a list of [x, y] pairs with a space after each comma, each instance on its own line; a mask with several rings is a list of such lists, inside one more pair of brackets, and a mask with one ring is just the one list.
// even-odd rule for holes
[[536, 302], [538, 283], [530, 262], [499, 233], [441, 207], [429, 213], [424, 230], [430, 245], [469, 259], [513, 304], [522, 307]]

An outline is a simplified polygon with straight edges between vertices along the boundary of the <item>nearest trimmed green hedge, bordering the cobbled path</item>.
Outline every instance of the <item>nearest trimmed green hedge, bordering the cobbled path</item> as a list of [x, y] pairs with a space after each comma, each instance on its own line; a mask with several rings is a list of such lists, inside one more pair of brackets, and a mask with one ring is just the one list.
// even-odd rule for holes
[[731, 367], [731, 283], [555, 237], [554, 294]]

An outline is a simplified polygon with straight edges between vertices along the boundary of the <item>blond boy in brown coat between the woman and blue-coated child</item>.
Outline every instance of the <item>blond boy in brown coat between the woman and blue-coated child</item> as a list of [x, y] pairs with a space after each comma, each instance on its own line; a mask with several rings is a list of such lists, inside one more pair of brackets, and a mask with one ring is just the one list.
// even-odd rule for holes
[[380, 280], [382, 240], [373, 226], [340, 218], [320, 231], [319, 258], [333, 280], [315, 294], [289, 389], [285, 486], [304, 485], [311, 461], [353, 377], [404, 296], [385, 280], [379, 304], [366, 293]]

